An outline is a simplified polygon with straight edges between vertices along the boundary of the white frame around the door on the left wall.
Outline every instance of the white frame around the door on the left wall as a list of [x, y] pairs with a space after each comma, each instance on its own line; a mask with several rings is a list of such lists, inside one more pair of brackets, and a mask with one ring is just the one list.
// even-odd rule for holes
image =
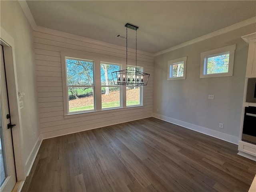
[[[14, 39], [0, 27], [0, 43], [4, 47], [4, 60], [6, 64], [6, 79], [10, 101], [10, 114], [12, 123], [16, 126], [12, 129], [13, 147], [16, 164], [17, 183], [26, 180], [23, 157], [23, 135], [21, 114], [18, 96], [18, 80], [16, 71]], [[14, 94], [15, 93], [15, 94]]]

